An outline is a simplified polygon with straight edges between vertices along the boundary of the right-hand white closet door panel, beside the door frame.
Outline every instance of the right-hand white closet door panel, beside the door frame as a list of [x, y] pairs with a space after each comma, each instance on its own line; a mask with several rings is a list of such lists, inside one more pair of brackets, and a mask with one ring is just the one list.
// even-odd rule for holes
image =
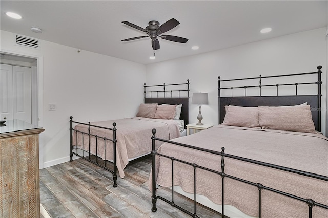
[[31, 68], [13, 66], [13, 116], [32, 123]]

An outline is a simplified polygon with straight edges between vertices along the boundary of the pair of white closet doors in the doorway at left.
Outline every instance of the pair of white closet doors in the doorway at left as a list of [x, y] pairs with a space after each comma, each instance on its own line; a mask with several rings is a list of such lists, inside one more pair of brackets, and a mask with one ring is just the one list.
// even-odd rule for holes
[[0, 118], [32, 122], [31, 68], [1, 64]]

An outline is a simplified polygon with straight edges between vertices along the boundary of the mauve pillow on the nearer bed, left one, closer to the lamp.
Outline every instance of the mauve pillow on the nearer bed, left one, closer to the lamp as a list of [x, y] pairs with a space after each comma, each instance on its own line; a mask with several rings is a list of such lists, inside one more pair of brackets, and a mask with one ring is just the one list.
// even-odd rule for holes
[[224, 106], [226, 116], [221, 125], [261, 128], [257, 107]]

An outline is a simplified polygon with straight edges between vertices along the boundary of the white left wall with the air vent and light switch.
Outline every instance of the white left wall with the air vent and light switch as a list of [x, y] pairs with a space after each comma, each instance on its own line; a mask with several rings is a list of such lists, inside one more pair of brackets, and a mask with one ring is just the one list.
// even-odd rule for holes
[[[40, 40], [40, 49], [14, 45], [1, 31], [1, 52], [38, 58], [39, 116], [44, 167], [69, 160], [69, 117], [87, 122], [135, 116], [143, 102], [145, 66]], [[109, 48], [110, 49], [110, 48]], [[56, 104], [56, 111], [48, 105]]]

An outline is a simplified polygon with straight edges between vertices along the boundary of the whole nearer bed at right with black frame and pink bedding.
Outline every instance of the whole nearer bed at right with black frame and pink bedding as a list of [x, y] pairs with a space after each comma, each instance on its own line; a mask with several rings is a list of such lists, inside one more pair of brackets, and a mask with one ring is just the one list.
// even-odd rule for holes
[[[229, 80], [219, 77], [219, 125], [173, 140], [157, 137], [159, 131], [153, 129], [148, 183], [151, 210], [156, 212], [156, 202], [162, 200], [193, 217], [199, 217], [196, 202], [218, 211], [222, 217], [326, 217], [328, 138], [318, 132], [321, 66], [317, 69], [281, 76]], [[308, 76], [312, 80], [304, 79]], [[302, 78], [286, 79], [290, 77]], [[263, 82], [267, 79], [270, 82]], [[250, 85], [249, 80], [259, 83]], [[283, 95], [283, 87], [287, 86], [292, 86], [294, 94]], [[316, 94], [308, 86], [314, 86]], [[270, 92], [273, 88], [275, 95], [264, 95], [268, 93], [266, 88]], [[247, 96], [249, 93], [258, 94]], [[278, 120], [281, 116], [285, 120]], [[263, 120], [275, 123], [277, 128], [260, 126]], [[238, 125], [231, 125], [234, 122]], [[257, 126], [247, 126], [253, 122]], [[300, 129], [283, 129], [286, 126]], [[157, 149], [159, 141], [165, 143]], [[158, 191], [161, 187], [172, 187], [172, 195], [162, 195]], [[193, 200], [189, 209], [174, 202], [176, 192]]]

